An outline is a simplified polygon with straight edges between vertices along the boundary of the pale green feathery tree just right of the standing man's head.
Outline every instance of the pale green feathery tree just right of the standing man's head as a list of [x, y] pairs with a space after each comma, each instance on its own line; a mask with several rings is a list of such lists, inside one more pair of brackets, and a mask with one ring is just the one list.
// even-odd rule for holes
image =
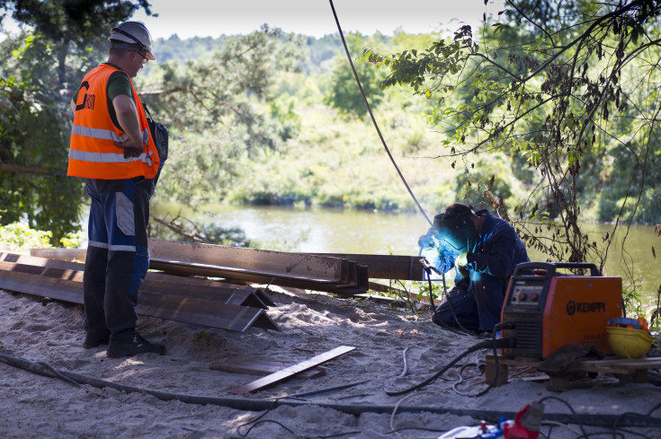
[[272, 99], [272, 89], [299, 66], [303, 40], [264, 26], [223, 41], [211, 57], [168, 61], [145, 78], [153, 92], [141, 93], [143, 101], [171, 128], [174, 153], [158, 183], [168, 198], [223, 198], [242, 161], [276, 152], [298, 129], [294, 110]]

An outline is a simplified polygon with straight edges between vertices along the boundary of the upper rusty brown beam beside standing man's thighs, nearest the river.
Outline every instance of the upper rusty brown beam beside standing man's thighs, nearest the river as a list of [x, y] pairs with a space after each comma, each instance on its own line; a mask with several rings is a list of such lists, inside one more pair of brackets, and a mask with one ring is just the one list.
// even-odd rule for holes
[[338, 258], [161, 240], [149, 240], [149, 252], [155, 259], [343, 281], [342, 259]]

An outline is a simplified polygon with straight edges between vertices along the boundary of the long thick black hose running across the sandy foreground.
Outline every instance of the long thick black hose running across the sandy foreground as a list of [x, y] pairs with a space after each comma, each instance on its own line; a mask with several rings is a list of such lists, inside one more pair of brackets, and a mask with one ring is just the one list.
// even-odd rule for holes
[[[80, 373], [72, 373], [67, 371], [58, 370], [54, 373], [49, 367], [31, 362], [24, 358], [4, 354], [0, 352], [0, 362], [9, 364], [13, 367], [30, 371], [32, 373], [39, 373], [40, 375], [48, 376], [51, 378], [58, 378], [58, 373], [66, 376], [81, 384], [91, 385], [99, 389], [109, 387], [117, 391], [125, 391], [127, 393], [142, 393], [156, 397], [157, 399], [169, 401], [179, 400], [187, 404], [201, 404], [201, 405], [216, 405], [227, 408], [234, 408], [244, 411], [262, 411], [280, 406], [289, 407], [320, 407], [332, 408], [334, 410], [342, 411], [354, 416], [360, 416], [363, 413], [378, 413], [378, 414], [391, 414], [395, 408], [394, 405], [357, 405], [357, 404], [334, 404], [334, 403], [318, 403], [308, 401], [284, 401], [284, 400], [269, 400], [269, 399], [244, 399], [244, 398], [219, 398], [219, 397], [206, 397], [196, 395], [186, 395], [182, 393], [171, 393], [167, 391], [154, 391], [151, 389], [143, 389], [139, 387], [128, 386], [119, 384], [117, 382], [109, 382], [99, 380]], [[451, 414], [456, 416], [468, 416], [474, 419], [485, 419], [488, 422], [496, 423], [500, 417], [507, 417], [514, 419], [516, 412], [505, 410], [485, 410], [485, 409], [469, 409], [469, 408], [443, 408], [434, 404], [432, 407], [421, 406], [404, 406], [398, 407], [397, 412], [427, 412], [434, 414]], [[612, 426], [617, 422], [619, 426], [631, 427], [661, 427], [661, 417], [650, 417], [649, 415], [640, 415], [627, 413], [625, 415], [591, 415], [591, 414], [567, 414], [567, 413], [544, 413], [544, 420], [561, 422], [563, 424], [575, 424], [576, 422], [582, 423], [584, 426]]]

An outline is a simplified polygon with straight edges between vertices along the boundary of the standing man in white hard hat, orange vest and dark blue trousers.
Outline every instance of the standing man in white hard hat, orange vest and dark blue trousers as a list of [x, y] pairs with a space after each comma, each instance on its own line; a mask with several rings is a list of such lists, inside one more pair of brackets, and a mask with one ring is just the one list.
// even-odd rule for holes
[[136, 331], [138, 290], [149, 267], [149, 199], [158, 170], [156, 145], [130, 78], [156, 57], [141, 22], [112, 29], [108, 61], [85, 75], [74, 94], [67, 174], [85, 179], [92, 198], [85, 260], [85, 343], [109, 345], [113, 358], [165, 354]]

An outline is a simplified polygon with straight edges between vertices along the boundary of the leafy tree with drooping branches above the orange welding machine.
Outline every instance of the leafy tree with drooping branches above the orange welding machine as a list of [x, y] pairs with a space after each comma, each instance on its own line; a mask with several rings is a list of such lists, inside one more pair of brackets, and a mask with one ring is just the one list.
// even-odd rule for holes
[[[469, 181], [484, 183], [485, 199], [502, 216], [526, 220], [518, 227], [529, 245], [552, 260], [603, 268], [614, 229], [631, 224], [641, 206], [658, 206], [661, 2], [505, 6], [479, 39], [463, 26], [424, 51], [365, 56], [389, 67], [382, 87], [405, 84], [438, 100], [433, 118], [448, 132], [442, 155], [463, 158], [469, 175], [478, 155], [493, 151], [535, 171], [527, 202], [514, 206], [518, 218], [488, 182]], [[585, 207], [600, 205], [609, 206], [614, 225], [595, 239], [581, 218]]]

